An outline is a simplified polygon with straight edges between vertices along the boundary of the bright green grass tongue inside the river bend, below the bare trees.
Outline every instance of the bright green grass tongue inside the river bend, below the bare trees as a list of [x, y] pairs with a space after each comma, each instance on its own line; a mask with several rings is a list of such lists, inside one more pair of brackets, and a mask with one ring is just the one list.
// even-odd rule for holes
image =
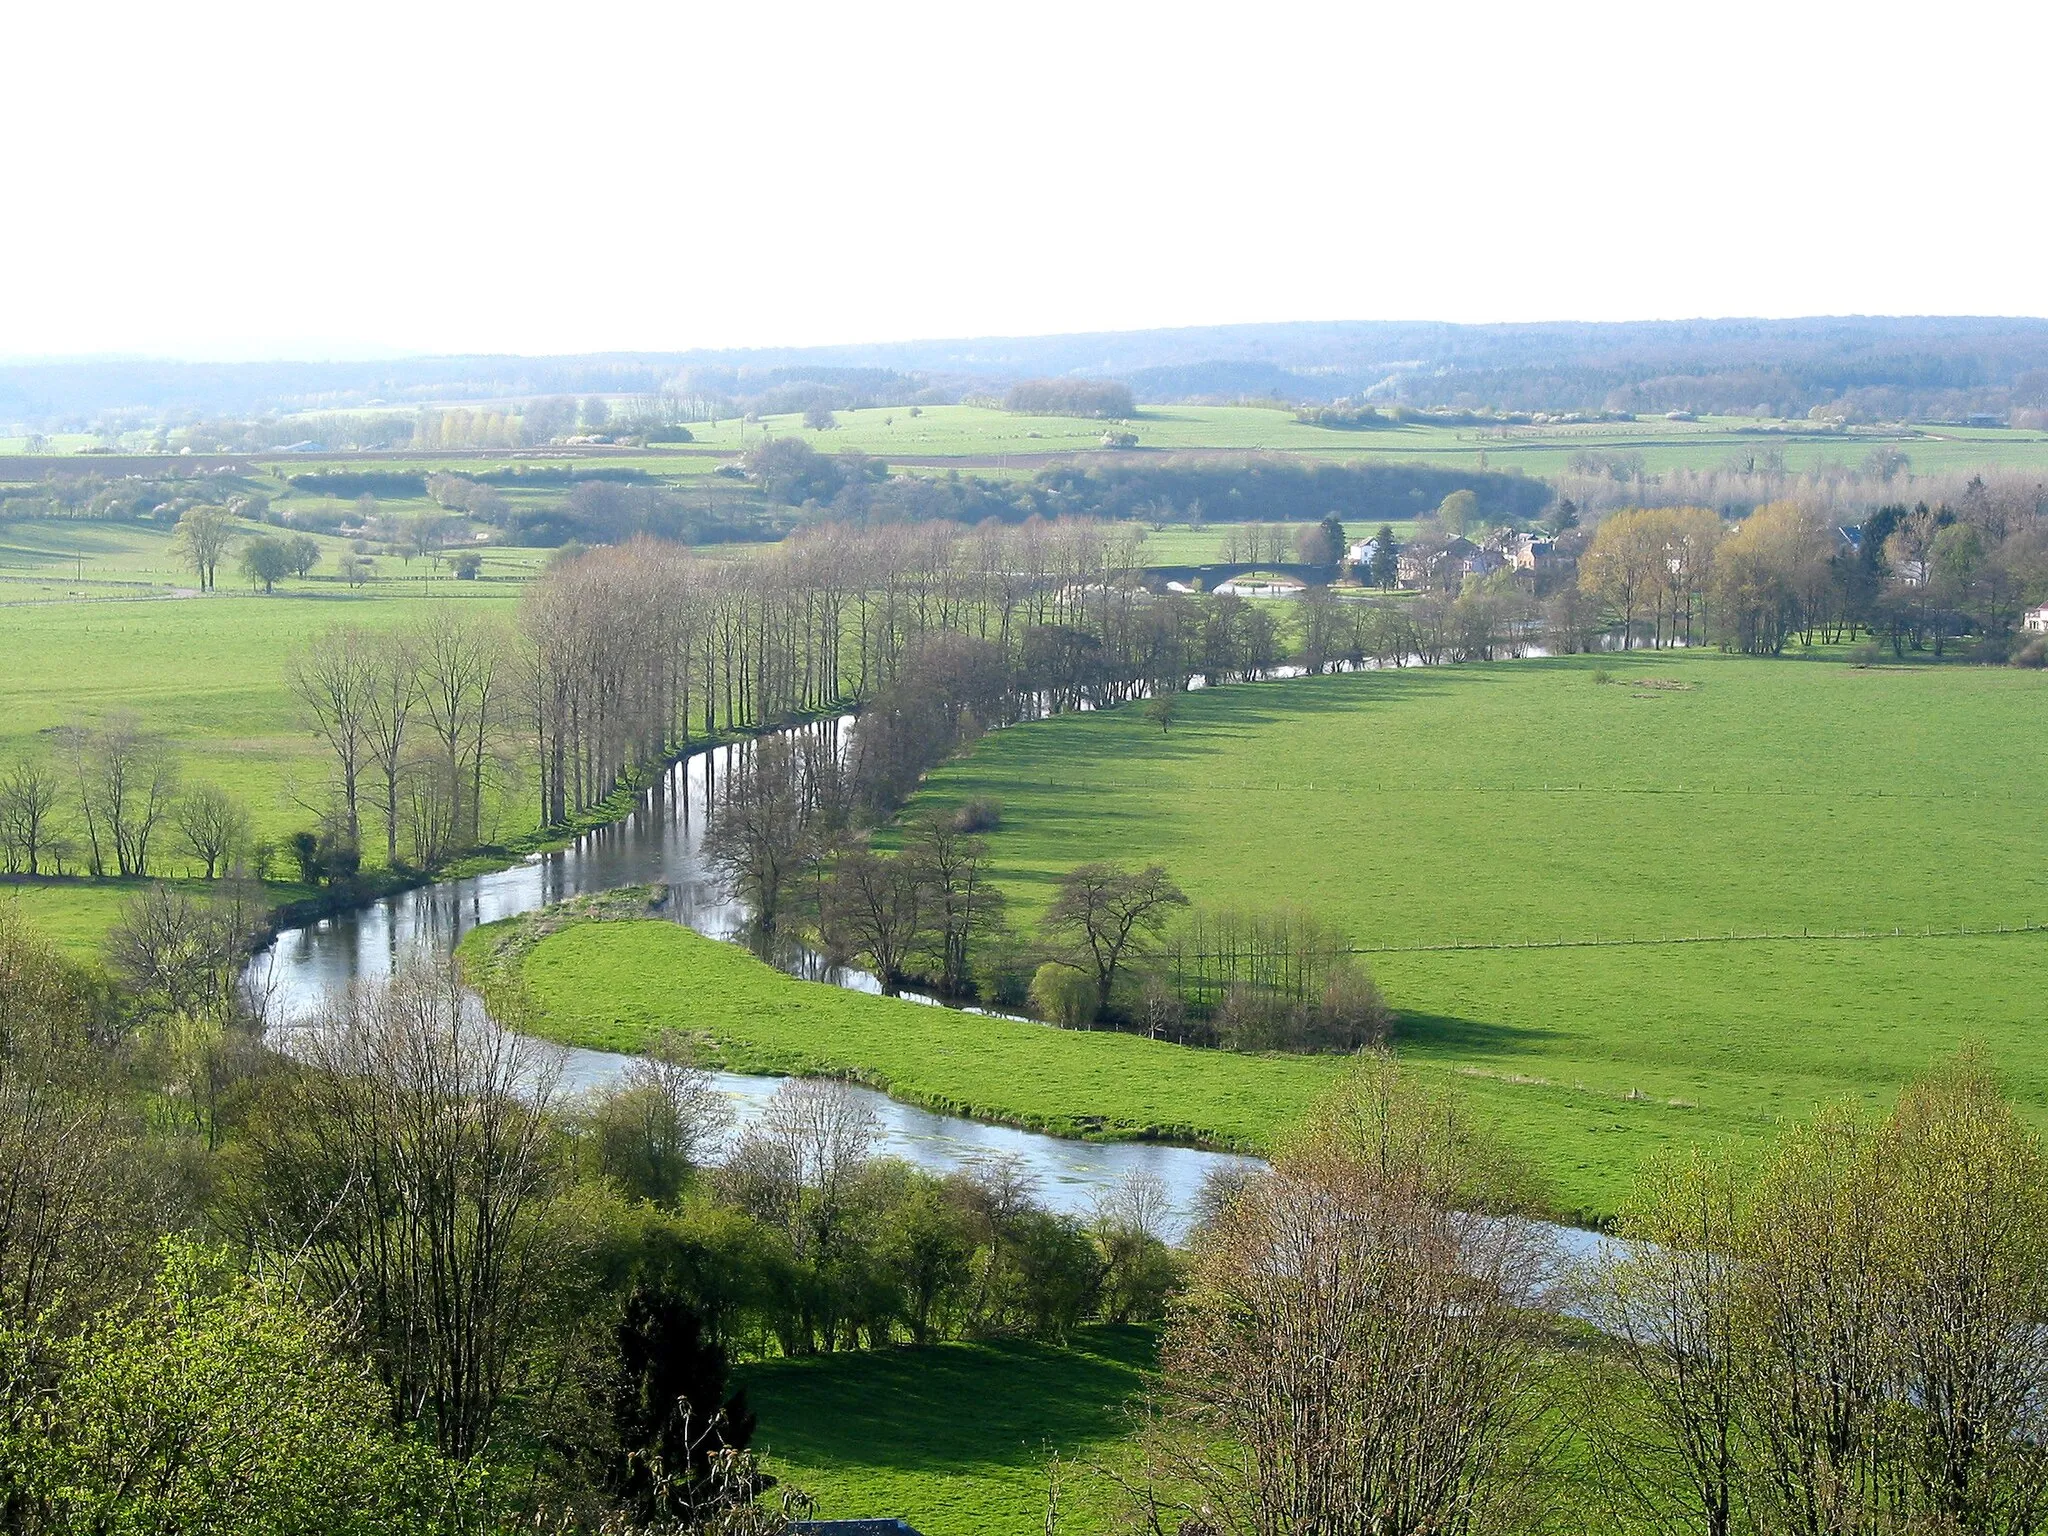
[[[498, 965], [508, 940], [512, 965]], [[1059, 1135], [1266, 1147], [1341, 1069], [1327, 1057], [1182, 1051], [797, 981], [668, 922], [575, 924], [528, 942], [526, 920], [514, 918], [473, 930], [459, 952], [500, 1014], [518, 1008], [522, 1026], [549, 1038], [637, 1051], [682, 1030], [735, 1071], [858, 1077], [911, 1104]]]

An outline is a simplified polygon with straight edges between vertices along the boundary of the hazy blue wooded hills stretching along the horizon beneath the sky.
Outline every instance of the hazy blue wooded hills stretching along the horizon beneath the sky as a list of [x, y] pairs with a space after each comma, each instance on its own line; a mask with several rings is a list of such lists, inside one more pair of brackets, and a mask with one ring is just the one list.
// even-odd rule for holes
[[[2048, 408], [2048, 319], [1810, 317], [1524, 326], [1294, 322], [743, 352], [422, 356], [379, 362], [0, 365], [0, 422], [121, 412], [250, 416], [543, 395], [907, 403], [1018, 379], [1120, 379], [1141, 401], [1372, 397], [1495, 410], [1870, 418]], [[801, 406], [799, 406], [801, 408]]]

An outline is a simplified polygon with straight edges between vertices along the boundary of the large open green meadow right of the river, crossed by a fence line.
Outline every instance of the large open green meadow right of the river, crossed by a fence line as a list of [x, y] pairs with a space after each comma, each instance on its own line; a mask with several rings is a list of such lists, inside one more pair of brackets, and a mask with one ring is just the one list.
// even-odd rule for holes
[[[2048, 1118], [2048, 934], [1610, 942], [2048, 920], [2044, 688], [1718, 655], [1264, 684], [1190, 694], [1169, 733], [993, 733], [924, 799], [1004, 803], [1026, 922], [1077, 862], [1159, 860], [1198, 901], [1399, 946], [1368, 961], [1405, 1055], [1602, 1214], [1659, 1145], [1882, 1100], [1970, 1038]], [[1561, 936], [1602, 942], [1423, 948]]]

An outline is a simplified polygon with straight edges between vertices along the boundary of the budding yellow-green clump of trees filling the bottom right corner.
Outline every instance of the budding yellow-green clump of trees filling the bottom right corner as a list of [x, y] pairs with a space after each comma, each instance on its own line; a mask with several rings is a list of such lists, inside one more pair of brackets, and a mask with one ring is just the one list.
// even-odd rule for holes
[[1708, 1536], [2038, 1528], [2044, 1219], [2048, 1155], [1972, 1057], [1759, 1167], [1663, 1163], [1587, 1288], [1616, 1493]]

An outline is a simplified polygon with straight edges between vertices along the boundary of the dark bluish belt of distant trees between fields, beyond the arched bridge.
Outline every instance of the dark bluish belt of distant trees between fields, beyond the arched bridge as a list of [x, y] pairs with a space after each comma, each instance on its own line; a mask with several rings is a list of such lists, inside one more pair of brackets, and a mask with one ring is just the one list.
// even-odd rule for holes
[[1280, 455], [1245, 459], [1106, 459], [1053, 465], [1028, 481], [969, 475], [891, 475], [860, 453], [823, 455], [799, 438], [776, 438], [748, 455], [748, 475], [772, 502], [813, 506], [870, 522], [1022, 522], [1032, 516], [1143, 518], [1153, 522], [1393, 522], [1434, 510], [1452, 492], [1473, 492], [1479, 516], [1526, 522], [1550, 502], [1540, 479], [1440, 469], [1436, 465], [1305, 463]]

